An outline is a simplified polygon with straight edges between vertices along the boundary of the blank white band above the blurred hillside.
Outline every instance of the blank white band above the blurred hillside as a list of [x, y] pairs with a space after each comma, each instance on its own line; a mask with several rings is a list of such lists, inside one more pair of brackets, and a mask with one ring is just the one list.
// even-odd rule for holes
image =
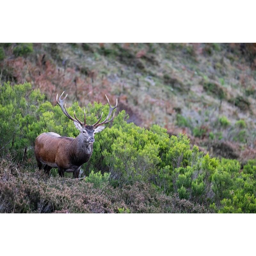
[[255, 42], [255, 1], [1, 2], [3, 42]]

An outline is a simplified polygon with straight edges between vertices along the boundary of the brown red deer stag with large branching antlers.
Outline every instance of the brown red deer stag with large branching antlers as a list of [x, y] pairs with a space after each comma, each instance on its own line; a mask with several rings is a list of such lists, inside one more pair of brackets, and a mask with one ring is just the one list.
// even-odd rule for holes
[[[61, 99], [64, 92], [60, 95], [59, 100], [57, 94], [56, 101], [64, 115], [74, 122], [76, 129], [80, 133], [76, 138], [60, 136], [55, 132], [44, 132], [40, 134], [35, 141], [35, 156], [39, 170], [44, 168], [45, 174], [49, 175], [52, 168], [58, 168], [60, 177], [64, 176], [64, 172], [73, 172], [74, 178], [78, 178], [81, 166], [89, 161], [92, 156], [95, 133], [101, 132], [105, 128], [104, 124], [111, 122], [115, 117], [113, 110], [117, 107], [117, 99], [116, 105], [112, 107], [105, 94], [109, 105], [108, 116], [104, 121], [100, 122], [103, 115], [102, 112], [95, 124], [88, 125], [86, 124], [85, 109], [84, 122], [81, 122], [76, 117], [75, 111], [75, 118], [70, 116], [66, 109], [66, 103], [63, 106], [63, 102], [68, 94]], [[112, 112], [113, 116], [110, 118]]]

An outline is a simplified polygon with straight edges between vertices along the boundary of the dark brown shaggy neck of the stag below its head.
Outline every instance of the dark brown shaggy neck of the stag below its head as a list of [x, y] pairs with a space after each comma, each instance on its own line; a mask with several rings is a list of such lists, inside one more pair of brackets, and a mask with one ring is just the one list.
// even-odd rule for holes
[[93, 144], [84, 140], [84, 136], [80, 133], [70, 145], [70, 157], [73, 163], [82, 165], [86, 163], [92, 156]]

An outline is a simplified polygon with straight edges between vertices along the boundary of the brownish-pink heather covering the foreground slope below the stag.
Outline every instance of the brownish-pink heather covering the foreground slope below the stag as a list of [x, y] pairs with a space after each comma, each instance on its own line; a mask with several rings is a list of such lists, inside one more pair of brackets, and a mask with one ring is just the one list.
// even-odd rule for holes
[[204, 213], [204, 206], [177, 195], [166, 196], [150, 184], [97, 188], [93, 183], [59, 177], [17, 166], [2, 159], [0, 212], [13, 213]]

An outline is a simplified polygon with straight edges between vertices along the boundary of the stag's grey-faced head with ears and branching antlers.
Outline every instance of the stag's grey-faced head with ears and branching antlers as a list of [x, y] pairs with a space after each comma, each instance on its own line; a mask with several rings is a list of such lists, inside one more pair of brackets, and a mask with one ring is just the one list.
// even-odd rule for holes
[[92, 144], [95, 141], [94, 140], [95, 133], [101, 132], [105, 128], [104, 124], [107, 124], [113, 120], [113, 118], [115, 116], [115, 112], [113, 113], [113, 116], [110, 119], [109, 119], [109, 117], [111, 116], [112, 111], [117, 107], [117, 99], [116, 99], [116, 105], [114, 107], [112, 107], [109, 103], [107, 95], [105, 94], [107, 101], [108, 101], [108, 105], [109, 105], [108, 116], [105, 118], [105, 120], [103, 122], [100, 123], [102, 115], [103, 115], [103, 112], [102, 112], [100, 115], [100, 118], [98, 119], [98, 121], [95, 124], [88, 125], [88, 124], [86, 124], [85, 109], [84, 109], [84, 122], [81, 122], [76, 117], [75, 111], [74, 111], [75, 118], [73, 118], [72, 116], [69, 115], [69, 113], [66, 109], [66, 103], [65, 103], [65, 106], [63, 106], [64, 100], [67, 98], [68, 94], [61, 100], [63, 93], [64, 92], [61, 93], [59, 100], [58, 100], [58, 94], [57, 94], [56, 101], [57, 101], [58, 105], [60, 106], [60, 108], [61, 108], [62, 112], [65, 114], [65, 116], [67, 116], [69, 119], [71, 119], [74, 122], [76, 129], [78, 129], [80, 131], [80, 136], [83, 137], [83, 140], [89, 144]]

